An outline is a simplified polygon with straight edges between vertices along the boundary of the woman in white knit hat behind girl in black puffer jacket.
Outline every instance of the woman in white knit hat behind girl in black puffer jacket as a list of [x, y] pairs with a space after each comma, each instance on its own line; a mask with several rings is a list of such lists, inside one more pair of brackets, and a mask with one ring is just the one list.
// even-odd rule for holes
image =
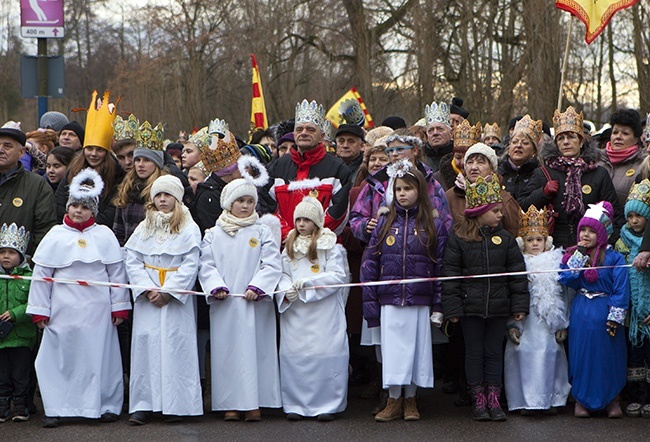
[[[447, 191], [447, 201], [451, 207], [451, 214], [454, 222], [463, 219], [465, 211], [465, 186], [467, 183], [475, 183], [479, 176], [487, 178], [492, 176], [498, 168], [498, 159], [494, 149], [483, 143], [476, 143], [465, 152], [464, 174], [459, 175], [454, 187]], [[503, 228], [514, 236], [517, 235], [519, 227], [519, 204], [507, 191], [501, 191], [503, 199], [503, 218], [501, 223]]]

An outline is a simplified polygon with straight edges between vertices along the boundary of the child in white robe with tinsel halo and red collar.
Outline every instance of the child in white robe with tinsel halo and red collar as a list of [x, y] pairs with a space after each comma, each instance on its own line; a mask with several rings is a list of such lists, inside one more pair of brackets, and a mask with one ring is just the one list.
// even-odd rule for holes
[[[115, 235], [95, 223], [103, 187], [92, 169], [73, 178], [63, 224], [45, 235], [32, 258], [35, 278], [126, 283]], [[124, 391], [116, 327], [129, 310], [124, 288], [32, 282], [27, 313], [43, 330], [36, 375], [44, 427], [57, 427], [59, 417], [118, 419]]]

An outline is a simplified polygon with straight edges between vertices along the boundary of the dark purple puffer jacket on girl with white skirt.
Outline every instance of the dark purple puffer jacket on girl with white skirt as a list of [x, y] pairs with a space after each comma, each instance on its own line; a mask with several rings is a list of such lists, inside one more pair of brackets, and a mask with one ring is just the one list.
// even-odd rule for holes
[[[395, 209], [397, 217], [391, 233], [378, 245], [378, 235], [386, 222], [386, 216], [379, 218], [363, 255], [361, 281], [439, 276], [448, 237], [445, 225], [436, 223], [438, 238], [434, 261], [424, 246], [426, 231], [415, 228], [418, 208], [404, 209], [395, 203]], [[377, 250], [381, 253], [378, 254]], [[382, 305], [428, 305], [432, 311], [441, 312], [441, 294], [441, 284], [438, 281], [363, 287], [363, 316], [368, 321], [368, 327], [377, 327], [380, 325]]]

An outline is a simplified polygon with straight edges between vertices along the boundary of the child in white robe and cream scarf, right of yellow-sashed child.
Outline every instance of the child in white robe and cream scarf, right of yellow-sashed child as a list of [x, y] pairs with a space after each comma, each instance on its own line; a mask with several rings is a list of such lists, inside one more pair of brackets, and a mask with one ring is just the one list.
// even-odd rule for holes
[[255, 212], [257, 188], [237, 178], [221, 193], [223, 212], [201, 243], [199, 282], [210, 304], [212, 409], [225, 420], [261, 419], [279, 408], [273, 292], [282, 275], [271, 228]]

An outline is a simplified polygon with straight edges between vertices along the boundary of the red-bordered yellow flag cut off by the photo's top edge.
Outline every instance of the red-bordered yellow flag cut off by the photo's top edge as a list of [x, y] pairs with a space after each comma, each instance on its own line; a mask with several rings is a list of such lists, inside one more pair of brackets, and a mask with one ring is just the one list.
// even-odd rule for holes
[[556, 0], [555, 7], [578, 17], [587, 28], [585, 41], [591, 43], [607, 27], [621, 9], [629, 8], [639, 0]]

